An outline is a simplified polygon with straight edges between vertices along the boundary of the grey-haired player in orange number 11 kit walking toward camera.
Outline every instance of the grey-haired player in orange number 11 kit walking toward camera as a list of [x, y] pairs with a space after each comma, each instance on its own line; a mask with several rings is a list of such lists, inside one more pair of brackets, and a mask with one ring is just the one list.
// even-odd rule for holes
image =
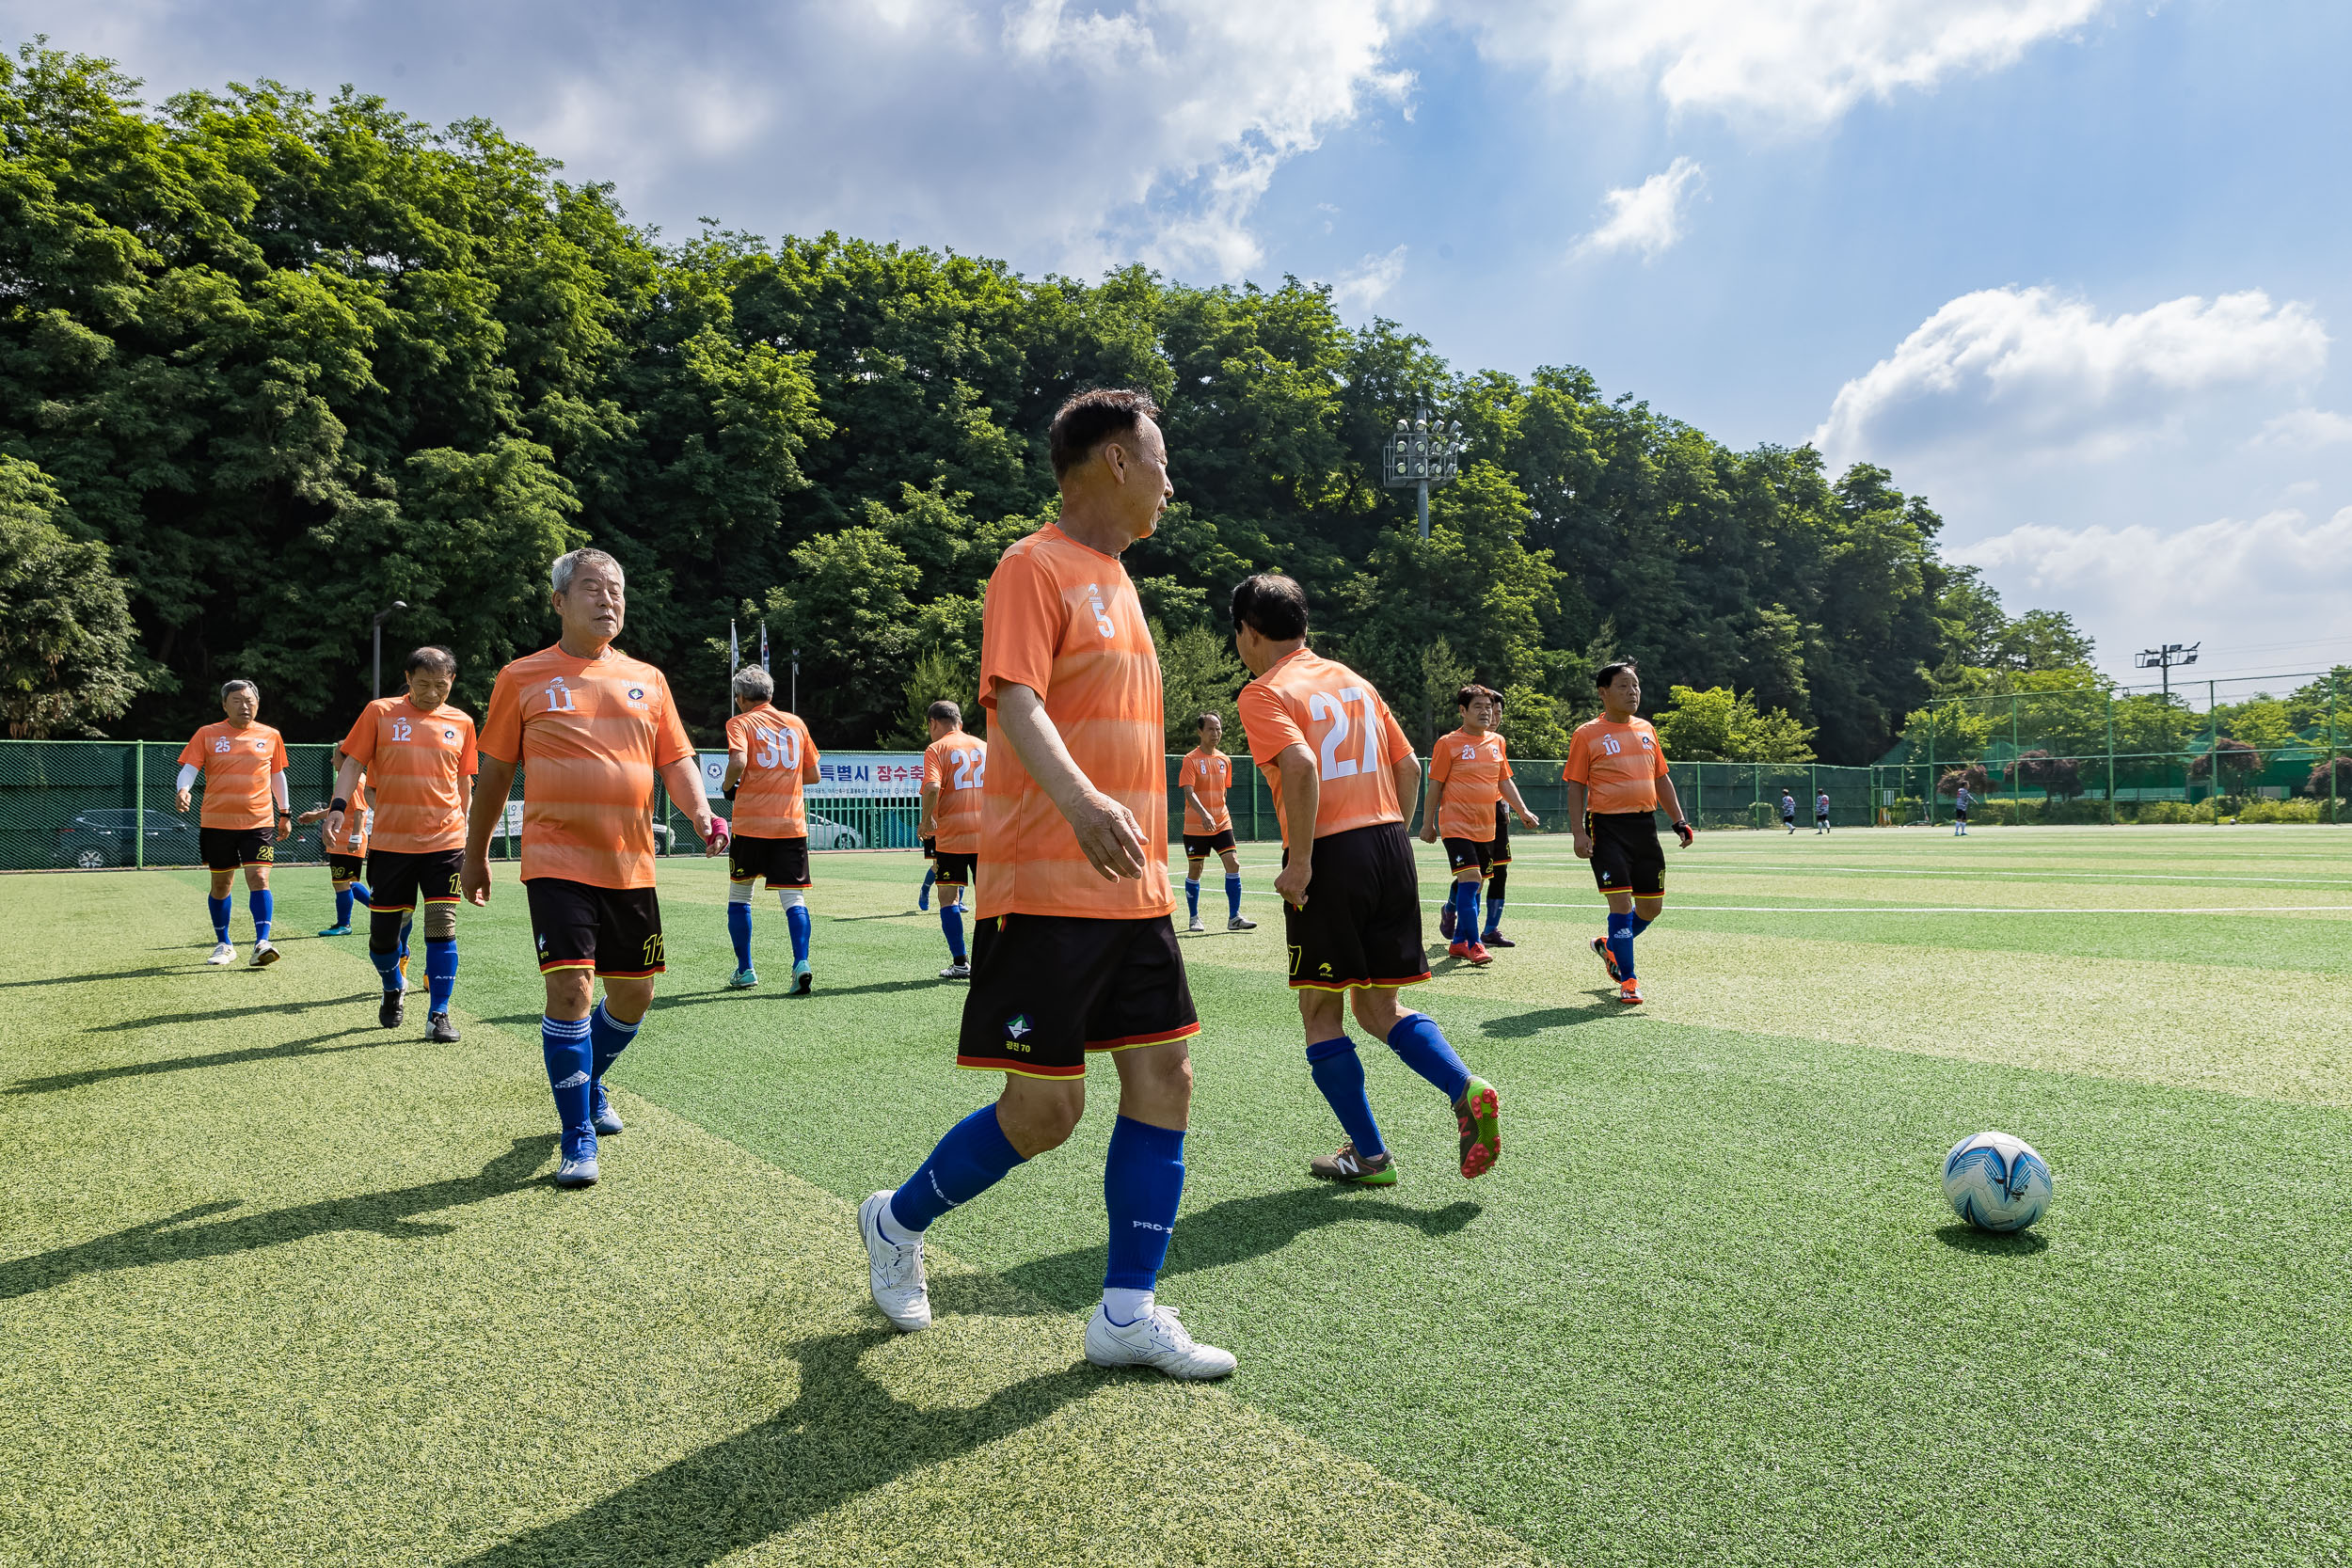
[[[557, 1187], [597, 1180], [597, 1133], [619, 1133], [604, 1072], [637, 1037], [663, 969], [654, 896], [654, 783], [687, 813], [703, 853], [727, 849], [670, 682], [612, 646], [628, 611], [621, 562], [572, 550], [548, 569], [562, 637], [499, 670], [482, 724], [482, 780], [466, 818], [463, 896], [489, 903], [489, 832], [522, 766], [522, 891], [548, 1011], [539, 1044], [562, 1124]], [[379, 785], [381, 792], [381, 785]], [[379, 830], [381, 832], [381, 830]], [[604, 1001], [595, 980], [604, 980]]]

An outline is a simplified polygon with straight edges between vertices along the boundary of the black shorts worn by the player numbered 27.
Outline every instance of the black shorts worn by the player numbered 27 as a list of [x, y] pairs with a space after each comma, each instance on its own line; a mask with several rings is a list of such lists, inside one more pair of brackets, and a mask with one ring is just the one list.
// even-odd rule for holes
[[[1289, 863], [1289, 851], [1282, 853]], [[1421, 950], [1421, 872], [1404, 823], [1374, 823], [1315, 839], [1308, 903], [1282, 905], [1291, 945], [1291, 990], [1418, 985], [1430, 978]]]

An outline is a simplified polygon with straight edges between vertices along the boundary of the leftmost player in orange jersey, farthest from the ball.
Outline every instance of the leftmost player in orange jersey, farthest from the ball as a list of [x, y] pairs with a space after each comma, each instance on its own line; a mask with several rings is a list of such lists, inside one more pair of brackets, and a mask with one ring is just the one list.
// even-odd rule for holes
[[228, 682], [221, 686], [219, 724], [188, 736], [179, 750], [179, 809], [188, 811], [191, 790], [202, 776], [205, 809], [198, 813], [195, 844], [212, 872], [205, 912], [212, 914], [212, 957], [207, 964], [235, 964], [228, 940], [228, 884], [245, 867], [245, 903], [254, 912], [254, 969], [278, 961], [270, 947], [270, 860], [278, 844], [294, 832], [287, 799], [287, 743], [268, 724], [256, 724], [261, 686]]

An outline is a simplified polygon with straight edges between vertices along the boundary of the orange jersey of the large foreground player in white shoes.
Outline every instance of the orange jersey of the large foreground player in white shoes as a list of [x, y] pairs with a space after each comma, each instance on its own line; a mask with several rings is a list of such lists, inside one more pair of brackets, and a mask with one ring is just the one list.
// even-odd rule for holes
[[1145, 919], [1174, 910], [1160, 649], [1120, 557], [1054, 524], [1004, 550], [981, 611], [981, 708], [995, 710], [1004, 686], [1042, 696], [1077, 771], [1134, 813], [1143, 877], [1096, 875], [1004, 726], [990, 724], [978, 917]]

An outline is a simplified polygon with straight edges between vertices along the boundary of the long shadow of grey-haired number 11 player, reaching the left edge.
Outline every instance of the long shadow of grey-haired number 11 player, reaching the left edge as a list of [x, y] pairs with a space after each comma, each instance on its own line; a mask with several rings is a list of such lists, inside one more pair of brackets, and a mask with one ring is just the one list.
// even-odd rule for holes
[[[499, 1154], [473, 1175], [456, 1175], [419, 1187], [393, 1187], [390, 1192], [367, 1192], [348, 1199], [322, 1199], [296, 1204], [294, 1208], [270, 1208], [230, 1220], [209, 1220], [228, 1213], [238, 1199], [198, 1204], [179, 1213], [118, 1229], [94, 1241], [59, 1246], [28, 1258], [0, 1262], [0, 1300], [14, 1300], [35, 1291], [49, 1291], [82, 1274], [108, 1274], [115, 1269], [143, 1269], [160, 1262], [188, 1262], [195, 1258], [226, 1258], [252, 1253], [263, 1246], [285, 1246], [308, 1237], [325, 1237], [339, 1229], [365, 1229], [390, 1241], [414, 1241], [421, 1237], [445, 1237], [454, 1225], [419, 1225], [416, 1215], [482, 1199], [520, 1192], [532, 1185], [539, 1166], [555, 1147], [555, 1135], [515, 1138], [506, 1154]], [[191, 1220], [209, 1220], [191, 1225]]]

